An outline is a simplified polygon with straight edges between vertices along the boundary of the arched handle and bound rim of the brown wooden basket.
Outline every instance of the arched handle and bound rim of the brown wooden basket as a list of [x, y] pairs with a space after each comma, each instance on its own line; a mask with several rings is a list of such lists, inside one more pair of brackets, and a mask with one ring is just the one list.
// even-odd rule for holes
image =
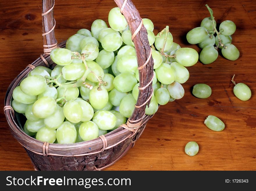
[[[105, 149], [109, 149], [114, 147], [117, 144], [120, 144], [127, 138], [131, 138], [134, 136], [138, 128], [145, 124], [153, 115], [145, 115], [145, 107], [146, 103], [150, 103], [150, 98], [153, 94], [152, 90], [152, 79], [153, 79], [153, 59], [151, 56], [151, 48], [149, 46], [147, 40], [147, 32], [145, 27], [142, 24], [142, 19], [138, 14], [138, 10], [135, 8], [131, 0], [114, 0], [119, 8], [121, 8], [121, 13], [127, 19], [131, 32], [133, 32], [132, 38], [134, 38], [134, 44], [137, 54], [138, 60], [138, 69], [140, 74], [140, 79], [144, 79], [140, 81], [139, 88], [139, 97], [136, 103], [136, 108], [134, 110], [133, 115], [131, 116], [130, 121], [127, 124], [121, 125], [116, 130], [106, 134], [106, 136], [101, 136], [99, 138], [89, 140], [86, 142], [79, 142], [74, 144], [54, 144], [47, 143], [36, 140], [35, 138], [30, 137], [26, 133], [22, 131], [22, 128], [16, 123], [17, 116], [13, 113], [11, 108], [12, 101], [12, 93], [13, 89], [19, 85], [20, 81], [24, 79], [27, 74], [39, 65], [46, 65], [47, 67], [53, 65], [49, 52], [51, 49], [58, 47], [65, 47], [65, 41], [61, 42], [57, 45], [57, 41], [54, 36], [54, 27], [55, 27], [55, 19], [53, 18], [53, 8], [54, 8], [54, 0], [43, 0], [42, 4], [47, 7], [49, 6], [47, 11], [44, 12], [45, 9], [42, 9], [42, 23], [43, 23], [43, 41], [44, 41], [44, 54], [41, 54], [40, 57], [35, 60], [32, 64], [29, 64], [13, 81], [10, 83], [10, 86], [6, 92], [5, 97], [5, 107], [4, 113], [7, 118], [8, 125], [10, 126], [11, 133], [17, 139], [17, 141], [22, 144], [26, 149], [40, 154], [40, 155], [54, 155], [54, 156], [85, 156], [90, 154], [95, 154], [104, 151]], [[129, 13], [137, 11], [138, 18], [133, 19], [129, 18]], [[135, 17], [137, 16], [134, 14]], [[48, 18], [50, 17], [50, 18]], [[46, 22], [44, 19], [46, 19]], [[132, 20], [133, 19], [133, 20]], [[138, 24], [139, 23], [139, 24]], [[135, 26], [135, 27], [134, 27]], [[47, 32], [46, 32], [47, 31]], [[138, 35], [136, 35], [138, 34]], [[143, 38], [146, 35], [146, 39]], [[141, 39], [142, 38], [142, 39]], [[138, 47], [137, 45], [141, 43], [143, 47]], [[142, 51], [138, 51], [138, 49]], [[144, 51], [144, 54], [141, 52]], [[147, 59], [146, 59], [147, 57]], [[142, 78], [141, 78], [142, 77]], [[144, 78], [143, 78], [144, 77]], [[141, 96], [142, 94], [142, 96]], [[142, 104], [140, 102], [143, 102]], [[143, 111], [141, 113], [141, 111]], [[141, 117], [142, 116], [142, 117]], [[140, 134], [141, 135], [141, 134]], [[137, 140], [137, 138], [136, 138]], [[135, 140], [135, 141], [136, 141]], [[135, 142], [134, 141], [134, 142]], [[133, 143], [134, 144], [134, 143]], [[93, 148], [93, 149], [92, 149]], [[124, 152], [125, 153], [125, 152]], [[119, 158], [121, 158], [121, 155]], [[117, 159], [117, 160], [118, 160]], [[107, 165], [109, 166], [109, 165]]]

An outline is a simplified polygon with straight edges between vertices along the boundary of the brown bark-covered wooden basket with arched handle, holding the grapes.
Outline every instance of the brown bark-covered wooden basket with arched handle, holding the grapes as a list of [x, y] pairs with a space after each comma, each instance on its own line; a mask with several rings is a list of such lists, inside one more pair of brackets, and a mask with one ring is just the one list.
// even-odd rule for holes
[[13, 90], [28, 73], [37, 66], [53, 68], [55, 64], [49, 53], [55, 47], [65, 47], [65, 42], [57, 44], [54, 35], [53, 17], [54, 0], [42, 1], [42, 25], [44, 54], [29, 64], [10, 84], [5, 97], [4, 113], [12, 135], [22, 144], [35, 170], [102, 170], [124, 156], [134, 146], [143, 133], [147, 121], [152, 115], [145, 115], [145, 107], [153, 94], [153, 59], [147, 39], [147, 31], [142, 19], [131, 0], [114, 0], [125, 16], [131, 30], [140, 77], [139, 96], [135, 110], [127, 124], [116, 130], [101, 135], [99, 138], [74, 144], [49, 144], [36, 140], [22, 130], [22, 114], [11, 107]]

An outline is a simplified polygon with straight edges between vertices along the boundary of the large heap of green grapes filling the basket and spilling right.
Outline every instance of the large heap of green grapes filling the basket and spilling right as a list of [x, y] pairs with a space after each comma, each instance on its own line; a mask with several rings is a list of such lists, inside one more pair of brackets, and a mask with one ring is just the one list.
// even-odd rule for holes
[[[13, 91], [13, 109], [27, 120], [24, 131], [41, 141], [69, 144], [97, 138], [126, 123], [138, 98], [139, 71], [131, 31], [118, 7], [109, 12], [109, 25], [97, 19], [67, 39], [66, 48], [50, 53], [56, 66], [36, 67]], [[154, 60], [154, 95], [145, 109], [184, 96], [189, 78], [184, 66], [198, 61], [198, 53], [173, 42], [168, 26], [154, 35], [150, 19], [143, 19]]]

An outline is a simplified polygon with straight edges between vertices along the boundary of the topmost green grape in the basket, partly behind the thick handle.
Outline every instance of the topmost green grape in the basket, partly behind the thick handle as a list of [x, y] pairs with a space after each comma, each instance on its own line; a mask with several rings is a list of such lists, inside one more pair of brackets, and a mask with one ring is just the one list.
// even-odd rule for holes
[[115, 31], [122, 31], [126, 28], [127, 21], [120, 13], [120, 8], [115, 7], [109, 11], [109, 26]]

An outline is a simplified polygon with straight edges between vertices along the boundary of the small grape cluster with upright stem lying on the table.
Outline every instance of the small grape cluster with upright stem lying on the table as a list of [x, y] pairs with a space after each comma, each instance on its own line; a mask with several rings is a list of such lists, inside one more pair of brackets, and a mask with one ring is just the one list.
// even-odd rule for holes
[[[239, 50], [232, 42], [232, 34], [236, 31], [236, 25], [230, 20], [223, 21], [219, 26], [219, 32], [216, 29], [213, 11], [208, 5], [205, 5], [211, 17], [202, 20], [200, 27], [193, 28], [186, 35], [190, 44], [198, 44], [202, 49], [199, 59], [203, 64], [213, 63], [218, 58], [218, 48], [222, 55], [228, 60], [237, 60]], [[216, 33], [216, 36], [214, 34]], [[216, 45], [216, 47], [214, 47]]]

